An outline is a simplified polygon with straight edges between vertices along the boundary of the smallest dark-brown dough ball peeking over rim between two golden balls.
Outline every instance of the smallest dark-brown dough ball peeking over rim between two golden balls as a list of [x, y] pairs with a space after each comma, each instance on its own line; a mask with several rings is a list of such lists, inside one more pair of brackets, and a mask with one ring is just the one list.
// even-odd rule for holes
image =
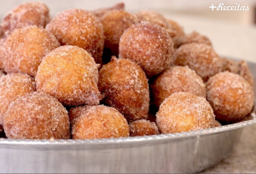
[[146, 119], [139, 119], [130, 124], [130, 136], [152, 136], [158, 134], [158, 127], [155, 123]]

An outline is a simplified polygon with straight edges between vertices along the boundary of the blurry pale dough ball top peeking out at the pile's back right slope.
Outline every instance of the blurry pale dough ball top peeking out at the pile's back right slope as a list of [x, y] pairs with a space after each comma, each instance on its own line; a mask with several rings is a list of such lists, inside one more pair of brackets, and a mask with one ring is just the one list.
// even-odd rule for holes
[[191, 44], [191, 43], [198, 43], [198, 44], [207, 44], [212, 46], [212, 43], [207, 36], [201, 35], [199, 32], [191, 32], [190, 34], [186, 35], [183, 38], [182, 44]]

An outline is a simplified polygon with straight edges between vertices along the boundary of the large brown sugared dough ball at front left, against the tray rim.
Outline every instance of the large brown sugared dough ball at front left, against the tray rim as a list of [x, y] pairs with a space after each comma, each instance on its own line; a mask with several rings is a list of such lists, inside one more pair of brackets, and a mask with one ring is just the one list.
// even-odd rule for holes
[[3, 128], [13, 139], [68, 139], [67, 110], [54, 97], [44, 93], [21, 96], [5, 113]]

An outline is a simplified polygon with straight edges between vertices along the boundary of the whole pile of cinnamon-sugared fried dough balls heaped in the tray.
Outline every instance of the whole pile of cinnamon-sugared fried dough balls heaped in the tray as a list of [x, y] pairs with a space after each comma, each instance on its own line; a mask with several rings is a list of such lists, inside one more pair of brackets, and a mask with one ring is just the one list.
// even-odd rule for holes
[[254, 104], [245, 61], [219, 57], [152, 10], [24, 3], [0, 26], [0, 125], [14, 139], [95, 139], [208, 129]]

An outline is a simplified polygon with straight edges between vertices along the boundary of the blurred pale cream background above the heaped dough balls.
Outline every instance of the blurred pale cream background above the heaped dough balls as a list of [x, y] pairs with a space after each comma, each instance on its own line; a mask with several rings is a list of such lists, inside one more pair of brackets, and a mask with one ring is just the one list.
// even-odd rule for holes
[[[0, 21], [3, 15], [20, 3], [34, 0], [0, 0]], [[153, 9], [166, 18], [176, 20], [185, 32], [201, 32], [211, 39], [219, 55], [256, 62], [256, 0], [39, 0], [49, 6], [52, 17], [64, 9], [100, 9], [125, 3], [131, 13]], [[221, 11], [209, 7], [248, 6], [246, 11]]]

